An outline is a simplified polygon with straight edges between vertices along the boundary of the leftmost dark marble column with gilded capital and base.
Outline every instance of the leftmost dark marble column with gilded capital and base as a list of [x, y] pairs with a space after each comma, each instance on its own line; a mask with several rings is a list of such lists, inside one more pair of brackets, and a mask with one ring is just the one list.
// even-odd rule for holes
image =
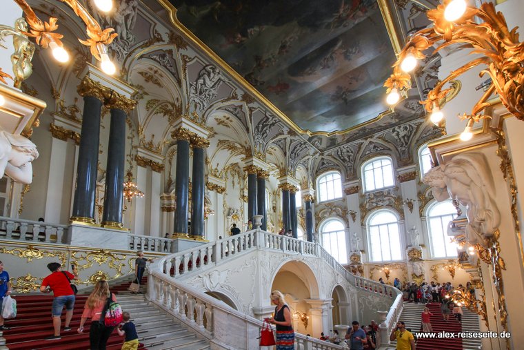
[[100, 139], [100, 114], [104, 88], [85, 77], [77, 88], [83, 96], [82, 130], [74, 189], [71, 220], [94, 223], [94, 200], [97, 191], [97, 168]]

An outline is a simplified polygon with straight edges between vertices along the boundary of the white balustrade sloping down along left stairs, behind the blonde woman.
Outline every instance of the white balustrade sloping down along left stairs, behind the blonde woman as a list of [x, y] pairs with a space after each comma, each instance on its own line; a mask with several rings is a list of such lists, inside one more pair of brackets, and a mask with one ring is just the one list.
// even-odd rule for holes
[[[191, 286], [185, 285], [177, 281], [165, 273], [157, 270], [150, 270], [150, 278], [148, 278], [148, 293], [145, 297], [154, 304], [168, 311], [187, 324], [189, 327], [199, 332], [206, 339], [220, 344], [225, 349], [236, 350], [238, 347], [230, 347], [227, 340], [230, 340], [231, 334], [229, 332], [215, 332], [214, 321], [220, 315], [227, 315], [228, 321], [231, 324], [234, 322], [242, 322], [246, 327], [246, 342], [252, 342], [250, 347], [256, 343], [259, 347], [259, 340], [256, 337], [248, 338], [253, 330], [256, 329], [256, 336], [259, 335], [259, 330], [263, 326], [261, 320], [245, 315], [230, 307], [228, 304], [213, 298], [210, 295], [194, 289]], [[218, 311], [218, 312], [217, 312]], [[194, 315], [196, 314], [196, 320]], [[232, 320], [231, 320], [232, 319]], [[223, 324], [222, 326], [223, 327]], [[226, 327], [227, 328], [227, 327]], [[249, 331], [251, 329], [251, 331]], [[299, 345], [299, 349], [312, 350], [339, 350], [344, 349], [341, 345], [332, 344], [304, 336], [301, 333], [295, 333], [295, 341]]]

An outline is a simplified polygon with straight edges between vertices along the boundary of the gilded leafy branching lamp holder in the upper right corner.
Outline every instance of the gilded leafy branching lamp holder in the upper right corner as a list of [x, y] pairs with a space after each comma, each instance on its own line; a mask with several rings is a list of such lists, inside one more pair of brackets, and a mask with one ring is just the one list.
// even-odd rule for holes
[[[406, 55], [412, 54], [416, 59], [423, 59], [423, 52], [434, 45], [434, 52], [448, 46], [470, 48], [470, 53], [481, 57], [472, 59], [439, 81], [427, 94], [425, 101], [421, 101], [425, 110], [431, 113], [435, 107], [443, 104], [445, 97], [452, 91], [444, 88], [450, 81], [476, 66], [485, 66], [480, 76], [489, 75], [492, 81], [467, 118], [480, 121], [488, 117], [482, 114], [489, 105], [487, 101], [492, 95], [498, 95], [510, 113], [524, 120], [524, 43], [518, 39], [517, 28], [509, 30], [503, 14], [496, 12], [492, 3], [483, 3], [480, 8], [466, 8], [460, 19], [447, 21], [444, 11], [450, 2], [444, 0], [442, 5], [427, 11], [427, 18], [433, 22], [433, 26], [419, 30], [407, 39], [393, 66], [394, 73], [385, 81], [387, 93], [392, 88], [406, 90], [411, 87], [410, 76], [400, 68]], [[476, 18], [481, 19], [481, 23], [476, 23]]]

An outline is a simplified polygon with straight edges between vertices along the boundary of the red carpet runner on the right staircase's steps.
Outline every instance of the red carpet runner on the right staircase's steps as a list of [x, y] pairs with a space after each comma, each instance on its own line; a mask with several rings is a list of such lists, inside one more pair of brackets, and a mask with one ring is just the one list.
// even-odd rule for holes
[[[431, 325], [434, 332], [461, 332], [462, 326], [453, 315], [450, 315], [450, 320], [445, 322], [441, 313], [441, 304], [437, 302], [430, 302], [426, 307], [433, 313], [431, 317]], [[419, 329], [412, 329], [416, 332]], [[419, 338], [416, 341], [416, 350], [462, 350], [462, 339], [460, 338]]]

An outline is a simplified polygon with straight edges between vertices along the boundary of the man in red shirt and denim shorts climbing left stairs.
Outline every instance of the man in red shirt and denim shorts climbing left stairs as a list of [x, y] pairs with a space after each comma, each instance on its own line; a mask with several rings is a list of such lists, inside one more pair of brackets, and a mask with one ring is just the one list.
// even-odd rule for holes
[[61, 326], [60, 316], [64, 305], [66, 305], [66, 327], [64, 327], [63, 330], [71, 330], [69, 324], [73, 316], [74, 291], [71, 288], [70, 280], [77, 280], [78, 273], [76, 266], [73, 268], [74, 274], [68, 271], [62, 271], [62, 266], [58, 262], [51, 262], [48, 264], [48, 269], [52, 273], [43, 279], [40, 291], [42, 293], [53, 292], [54, 295], [51, 311], [54, 335], [44, 338], [44, 340], [59, 340]]

